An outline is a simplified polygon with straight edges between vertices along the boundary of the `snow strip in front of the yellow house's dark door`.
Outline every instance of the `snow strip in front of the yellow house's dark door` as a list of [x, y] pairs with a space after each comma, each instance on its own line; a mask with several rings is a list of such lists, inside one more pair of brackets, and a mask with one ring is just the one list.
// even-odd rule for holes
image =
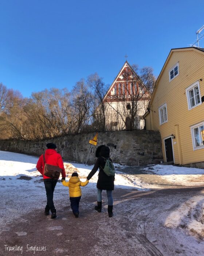
[[204, 185], [204, 169], [178, 167], [173, 165], [154, 165], [146, 167], [146, 171], [162, 176], [167, 181], [182, 186]]

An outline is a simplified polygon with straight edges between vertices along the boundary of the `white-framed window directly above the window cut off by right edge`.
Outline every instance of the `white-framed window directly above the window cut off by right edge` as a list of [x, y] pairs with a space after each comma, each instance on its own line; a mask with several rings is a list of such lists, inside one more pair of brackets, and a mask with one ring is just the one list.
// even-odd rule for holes
[[188, 110], [191, 110], [201, 104], [199, 81], [193, 83], [186, 89], [186, 96], [188, 102]]

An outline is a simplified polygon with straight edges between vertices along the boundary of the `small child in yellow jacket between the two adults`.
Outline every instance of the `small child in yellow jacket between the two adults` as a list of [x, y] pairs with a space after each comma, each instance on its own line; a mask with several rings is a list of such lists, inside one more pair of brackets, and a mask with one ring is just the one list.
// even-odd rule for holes
[[85, 182], [80, 181], [77, 172], [72, 173], [69, 181], [62, 179], [62, 184], [65, 187], [69, 187], [71, 209], [76, 218], [79, 217], [79, 202], [82, 196], [80, 186], [85, 187], [88, 183], [88, 180]]

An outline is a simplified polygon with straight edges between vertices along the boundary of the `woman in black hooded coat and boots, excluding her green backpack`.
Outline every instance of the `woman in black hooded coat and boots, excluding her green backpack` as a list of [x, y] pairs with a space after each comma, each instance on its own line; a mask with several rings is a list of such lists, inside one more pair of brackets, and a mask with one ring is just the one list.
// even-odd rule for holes
[[[98, 181], [97, 181], [97, 206], [95, 206], [95, 210], [101, 212], [102, 208], [102, 190], [106, 190], [108, 197], [108, 215], [109, 217], [113, 217], [113, 196], [112, 191], [114, 190], [114, 176], [107, 176], [105, 172], [103, 172], [103, 168], [105, 167], [106, 159], [110, 158], [110, 148], [105, 145], [101, 145], [97, 147], [96, 154], [97, 161], [89, 175], [87, 176], [87, 180], [97, 172], [99, 168]], [[112, 162], [111, 158], [110, 161]]]

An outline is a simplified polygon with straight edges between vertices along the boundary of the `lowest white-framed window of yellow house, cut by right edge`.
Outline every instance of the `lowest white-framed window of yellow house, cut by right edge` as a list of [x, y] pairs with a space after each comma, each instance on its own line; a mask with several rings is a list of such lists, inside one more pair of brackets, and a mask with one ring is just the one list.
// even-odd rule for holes
[[191, 127], [193, 150], [204, 148], [204, 122]]

